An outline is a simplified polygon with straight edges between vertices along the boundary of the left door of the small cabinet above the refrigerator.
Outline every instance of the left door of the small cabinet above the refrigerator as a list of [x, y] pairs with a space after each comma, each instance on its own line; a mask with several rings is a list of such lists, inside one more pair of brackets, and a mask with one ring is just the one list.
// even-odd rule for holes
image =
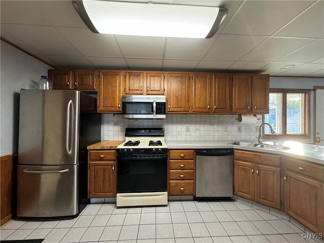
[[54, 90], [72, 89], [72, 71], [62, 69], [50, 69], [49, 76], [53, 81]]

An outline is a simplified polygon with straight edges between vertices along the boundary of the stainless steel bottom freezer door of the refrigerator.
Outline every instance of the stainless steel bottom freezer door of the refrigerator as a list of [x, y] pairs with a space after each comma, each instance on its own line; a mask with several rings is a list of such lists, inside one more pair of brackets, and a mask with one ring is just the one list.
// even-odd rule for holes
[[78, 213], [78, 165], [18, 165], [17, 216], [58, 217]]

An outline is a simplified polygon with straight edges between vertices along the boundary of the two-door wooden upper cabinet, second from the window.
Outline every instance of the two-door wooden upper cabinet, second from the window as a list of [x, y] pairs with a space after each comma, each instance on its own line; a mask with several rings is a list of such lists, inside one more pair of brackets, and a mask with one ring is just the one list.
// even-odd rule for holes
[[193, 73], [192, 113], [230, 113], [230, 75]]

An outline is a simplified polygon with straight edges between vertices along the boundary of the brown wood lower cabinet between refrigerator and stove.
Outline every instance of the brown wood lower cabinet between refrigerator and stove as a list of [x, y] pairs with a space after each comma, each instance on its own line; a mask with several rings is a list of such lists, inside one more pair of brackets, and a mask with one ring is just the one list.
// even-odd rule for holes
[[116, 151], [89, 151], [89, 198], [116, 196]]

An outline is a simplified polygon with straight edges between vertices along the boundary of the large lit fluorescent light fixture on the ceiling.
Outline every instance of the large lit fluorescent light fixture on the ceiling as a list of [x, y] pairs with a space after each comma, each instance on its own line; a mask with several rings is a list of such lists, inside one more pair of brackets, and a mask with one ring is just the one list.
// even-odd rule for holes
[[73, 1], [73, 6], [95, 33], [158, 37], [212, 37], [228, 11], [195, 5]]

